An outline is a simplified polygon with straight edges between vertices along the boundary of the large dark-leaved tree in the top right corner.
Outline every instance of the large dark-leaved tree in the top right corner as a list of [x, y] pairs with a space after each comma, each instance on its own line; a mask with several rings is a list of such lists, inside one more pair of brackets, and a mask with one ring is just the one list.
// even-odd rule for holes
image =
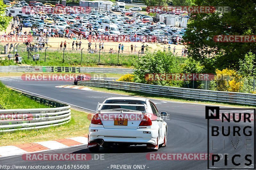
[[253, 54], [256, 53], [256, 43], [220, 43], [213, 41], [213, 37], [215, 35], [255, 35], [255, 1], [195, 0], [195, 4], [229, 6], [231, 10], [227, 13], [193, 13], [191, 15], [186, 36], [184, 36], [190, 57], [200, 61], [210, 72], [225, 68], [238, 70], [239, 60], [243, 60], [248, 51], [252, 50]]

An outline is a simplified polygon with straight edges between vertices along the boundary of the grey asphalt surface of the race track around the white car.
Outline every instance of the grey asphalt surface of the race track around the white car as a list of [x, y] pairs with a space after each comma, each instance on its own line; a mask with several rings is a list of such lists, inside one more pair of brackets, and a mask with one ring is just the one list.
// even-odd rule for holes
[[[31, 92], [34, 95], [46, 96], [55, 100], [95, 110], [98, 102], [106, 98], [123, 96], [96, 91], [85, 91], [68, 88], [56, 88], [57, 85], [72, 85], [72, 82], [63, 81], [23, 81], [20, 78], [0, 78], [8, 86]], [[207, 120], [205, 119], [205, 105], [152, 100], [159, 112], [166, 111], [170, 117], [165, 120], [168, 124], [167, 146], [152, 153], [207, 153]], [[86, 117], [85, 117], [86, 118]], [[220, 122], [213, 121], [212, 124], [219, 125]], [[244, 124], [241, 123], [241, 126]], [[84, 132], [85, 134], [88, 132]], [[232, 147], [228, 137], [226, 146]], [[243, 138], [244, 140], [244, 138]], [[222, 143], [218, 145], [223, 145]], [[145, 146], [130, 146], [128, 148], [100, 148], [104, 154], [104, 160], [88, 161], [24, 161], [21, 155], [0, 158], [1, 165], [89, 165], [90, 169], [111, 169], [111, 165], [145, 165], [145, 169], [207, 169], [206, 160], [147, 160], [146, 155], [151, 152], [145, 150]], [[240, 143], [236, 149], [230, 148], [229, 154], [245, 154]], [[43, 153], [90, 153], [87, 145], [52, 150]], [[216, 153], [225, 153], [219, 147]], [[92, 153], [92, 158], [94, 153]], [[254, 158], [255, 159], [255, 158]], [[231, 158], [229, 158], [229, 161]], [[229, 162], [230, 163], [230, 162]], [[232, 166], [233, 168], [234, 166]], [[243, 168], [244, 164], [236, 168]], [[112, 168], [113, 169], [113, 168]], [[133, 168], [132, 168], [133, 169]]]

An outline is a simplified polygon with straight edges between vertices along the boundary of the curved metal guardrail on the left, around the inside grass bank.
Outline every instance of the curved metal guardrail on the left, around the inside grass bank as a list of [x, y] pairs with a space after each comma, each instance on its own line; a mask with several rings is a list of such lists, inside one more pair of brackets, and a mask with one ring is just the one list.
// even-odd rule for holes
[[70, 121], [69, 105], [31, 96], [26, 93], [22, 94], [52, 108], [0, 109], [0, 132], [41, 129], [58, 126]]

